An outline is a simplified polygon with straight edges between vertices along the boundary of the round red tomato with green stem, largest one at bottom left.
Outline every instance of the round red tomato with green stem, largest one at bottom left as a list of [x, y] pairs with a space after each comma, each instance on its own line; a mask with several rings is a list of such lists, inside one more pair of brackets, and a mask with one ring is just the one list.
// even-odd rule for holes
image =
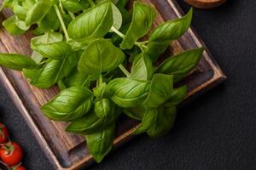
[[0, 157], [4, 163], [9, 166], [15, 166], [20, 163], [23, 157], [23, 150], [15, 142], [2, 144], [0, 148]]

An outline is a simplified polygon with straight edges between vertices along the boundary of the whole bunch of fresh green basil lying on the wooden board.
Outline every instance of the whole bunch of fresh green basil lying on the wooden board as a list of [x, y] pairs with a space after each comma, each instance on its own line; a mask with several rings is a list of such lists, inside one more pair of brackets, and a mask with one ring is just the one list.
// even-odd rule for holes
[[[29, 28], [32, 57], [0, 54], [0, 65], [23, 71], [38, 88], [57, 84], [60, 94], [43, 105], [49, 119], [70, 122], [67, 132], [84, 135], [97, 162], [111, 150], [115, 122], [125, 113], [141, 121], [134, 134], [152, 138], [173, 126], [177, 105], [187, 94], [175, 88], [201, 59], [203, 48], [185, 51], [155, 66], [170, 42], [189, 29], [183, 18], [151, 30], [156, 12], [128, 0], [6, 0], [14, 15], [3, 21], [13, 35]], [[140, 41], [146, 34], [148, 40]], [[130, 69], [129, 69], [130, 68]]]

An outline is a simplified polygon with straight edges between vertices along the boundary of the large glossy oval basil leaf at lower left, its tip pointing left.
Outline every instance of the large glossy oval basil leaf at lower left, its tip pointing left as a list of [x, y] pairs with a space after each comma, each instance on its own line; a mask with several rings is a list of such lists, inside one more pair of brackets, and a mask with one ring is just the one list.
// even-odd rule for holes
[[41, 111], [55, 121], [73, 121], [90, 111], [92, 99], [92, 92], [88, 88], [67, 88], [43, 105]]

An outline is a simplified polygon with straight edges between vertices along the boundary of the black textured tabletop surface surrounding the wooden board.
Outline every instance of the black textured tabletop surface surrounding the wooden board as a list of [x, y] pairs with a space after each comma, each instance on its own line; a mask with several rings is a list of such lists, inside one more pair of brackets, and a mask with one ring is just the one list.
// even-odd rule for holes
[[[256, 1], [196, 9], [192, 25], [228, 80], [180, 110], [168, 135], [139, 136], [90, 169], [256, 169]], [[53, 169], [1, 86], [0, 111], [0, 121], [25, 150], [27, 169]]]

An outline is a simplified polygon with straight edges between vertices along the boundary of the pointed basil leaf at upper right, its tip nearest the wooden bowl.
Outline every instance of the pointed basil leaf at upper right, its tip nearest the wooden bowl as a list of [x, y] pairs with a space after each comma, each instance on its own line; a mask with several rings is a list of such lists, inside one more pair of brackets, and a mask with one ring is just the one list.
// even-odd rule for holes
[[148, 39], [149, 42], [171, 42], [181, 37], [190, 26], [193, 8], [183, 18], [167, 21], [154, 28]]

